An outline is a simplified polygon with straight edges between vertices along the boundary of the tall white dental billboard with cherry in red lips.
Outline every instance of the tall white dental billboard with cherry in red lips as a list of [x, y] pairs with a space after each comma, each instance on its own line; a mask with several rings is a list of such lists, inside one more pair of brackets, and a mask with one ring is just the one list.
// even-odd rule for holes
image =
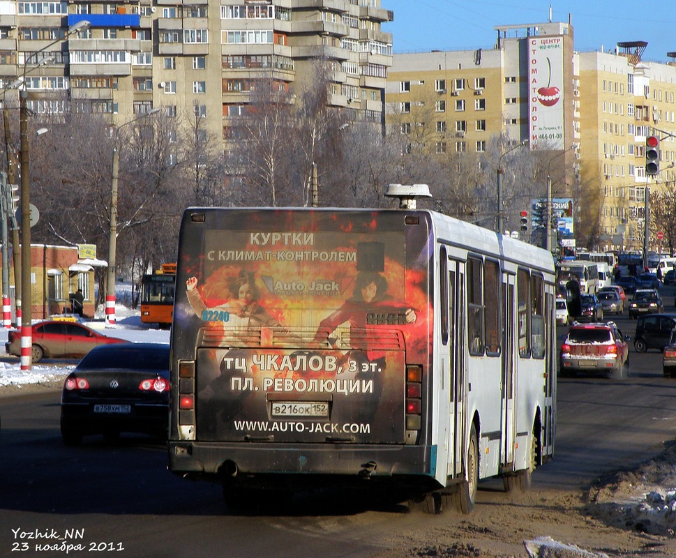
[[564, 149], [563, 37], [528, 40], [531, 149]]

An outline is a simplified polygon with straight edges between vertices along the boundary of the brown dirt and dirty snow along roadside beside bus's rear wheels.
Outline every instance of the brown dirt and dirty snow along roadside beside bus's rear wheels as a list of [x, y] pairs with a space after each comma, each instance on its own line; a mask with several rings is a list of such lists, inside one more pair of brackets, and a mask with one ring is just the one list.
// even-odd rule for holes
[[524, 541], [539, 537], [608, 557], [675, 557], [676, 443], [578, 493], [538, 490], [534, 474], [532, 489], [519, 495], [480, 485], [470, 515], [446, 510], [430, 522], [412, 513], [421, 515], [420, 529], [377, 558], [528, 557]]

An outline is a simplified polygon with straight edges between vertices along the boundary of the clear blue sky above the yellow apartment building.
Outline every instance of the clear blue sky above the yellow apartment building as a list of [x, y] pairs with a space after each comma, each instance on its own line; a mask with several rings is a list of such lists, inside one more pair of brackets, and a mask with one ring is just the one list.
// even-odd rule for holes
[[394, 12], [383, 25], [395, 54], [493, 48], [496, 25], [568, 22], [575, 49], [614, 50], [617, 43], [648, 43], [645, 61], [671, 61], [676, 52], [676, 0], [381, 0]]

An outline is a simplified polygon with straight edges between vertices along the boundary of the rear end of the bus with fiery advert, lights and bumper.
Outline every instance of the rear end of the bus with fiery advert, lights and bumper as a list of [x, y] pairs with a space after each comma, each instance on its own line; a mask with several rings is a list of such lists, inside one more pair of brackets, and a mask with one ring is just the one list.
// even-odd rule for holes
[[234, 488], [433, 488], [430, 218], [188, 209], [170, 469]]

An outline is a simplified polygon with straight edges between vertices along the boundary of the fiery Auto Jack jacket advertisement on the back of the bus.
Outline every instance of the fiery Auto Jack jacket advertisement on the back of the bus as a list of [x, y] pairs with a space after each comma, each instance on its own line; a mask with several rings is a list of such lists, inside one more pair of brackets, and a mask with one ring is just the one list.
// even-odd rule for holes
[[274, 216], [206, 230], [181, 262], [197, 439], [403, 444], [405, 358], [425, 363], [431, 338], [427, 227], [324, 212], [288, 232]]

